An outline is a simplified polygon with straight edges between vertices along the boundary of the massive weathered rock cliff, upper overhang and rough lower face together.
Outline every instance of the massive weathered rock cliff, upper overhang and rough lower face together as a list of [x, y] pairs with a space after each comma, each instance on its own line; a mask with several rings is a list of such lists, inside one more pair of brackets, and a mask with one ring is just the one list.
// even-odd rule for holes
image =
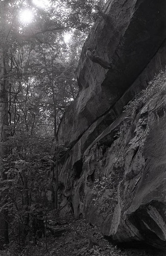
[[[166, 249], [165, 73], [123, 112], [166, 65], [166, 1], [110, 0], [104, 14], [83, 47], [80, 93], [59, 129], [70, 148], [61, 159], [62, 205], [117, 243]], [[88, 46], [112, 58], [112, 69], [90, 62]]]

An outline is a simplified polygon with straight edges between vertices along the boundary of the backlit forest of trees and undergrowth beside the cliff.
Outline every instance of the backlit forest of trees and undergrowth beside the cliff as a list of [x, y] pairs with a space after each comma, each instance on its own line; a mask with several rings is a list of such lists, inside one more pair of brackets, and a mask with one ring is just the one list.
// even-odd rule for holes
[[103, 6], [101, 0], [0, 2], [2, 249], [11, 240], [25, 246], [37, 231], [33, 222], [41, 209], [44, 218], [50, 209], [58, 210], [54, 176], [63, 150], [58, 127], [77, 97], [75, 69]]

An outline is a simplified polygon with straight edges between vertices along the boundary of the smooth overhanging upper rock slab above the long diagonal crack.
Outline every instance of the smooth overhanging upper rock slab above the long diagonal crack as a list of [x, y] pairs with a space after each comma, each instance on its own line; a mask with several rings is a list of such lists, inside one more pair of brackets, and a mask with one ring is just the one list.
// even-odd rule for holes
[[[165, 39], [165, 0], [108, 1], [105, 14], [106, 20], [97, 20], [83, 47], [77, 70], [81, 91], [63, 117], [61, 142], [77, 141], [99, 116], [109, 111]], [[85, 57], [88, 46], [96, 48], [96, 53], [106, 60], [112, 58], [112, 70], [107, 72], [90, 62]]]

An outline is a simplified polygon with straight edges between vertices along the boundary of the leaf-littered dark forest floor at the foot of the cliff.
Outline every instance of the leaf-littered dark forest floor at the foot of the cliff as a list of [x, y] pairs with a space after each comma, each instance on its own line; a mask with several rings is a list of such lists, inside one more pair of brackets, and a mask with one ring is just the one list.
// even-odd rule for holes
[[[52, 227], [55, 230], [64, 229], [60, 237], [55, 237], [50, 232], [45, 238], [31, 240], [21, 252], [15, 242], [10, 244], [12, 256], [154, 256], [166, 255], [155, 249], [124, 249], [113, 246], [108, 242], [97, 227], [91, 226], [85, 220], [75, 220], [68, 217], [65, 220], [52, 218]], [[47, 250], [45, 246], [47, 243]], [[94, 245], [97, 244], [97, 245]], [[1, 255], [1, 252], [0, 252]]]

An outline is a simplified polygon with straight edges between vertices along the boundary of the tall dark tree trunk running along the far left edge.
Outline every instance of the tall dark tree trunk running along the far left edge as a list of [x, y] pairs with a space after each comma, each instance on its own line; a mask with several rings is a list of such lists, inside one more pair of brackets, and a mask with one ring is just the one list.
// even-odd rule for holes
[[[9, 45], [6, 44], [8, 24], [5, 19], [4, 8], [6, 8], [6, 4], [1, 2], [1, 31], [3, 30], [3, 38], [0, 41], [0, 60], [1, 60], [1, 80], [0, 80], [0, 178], [3, 181], [6, 179], [6, 174], [4, 172], [4, 158], [7, 155], [7, 149], [4, 143], [7, 140], [8, 134], [8, 81], [7, 81], [7, 70], [8, 70], [8, 56], [7, 51]], [[0, 198], [2, 200], [2, 198]], [[2, 243], [8, 243], [8, 222], [4, 219], [4, 216], [7, 215], [7, 210], [2, 209], [0, 212], [0, 236], [4, 241]], [[5, 221], [4, 221], [5, 220]], [[2, 246], [2, 244], [0, 244]]]

